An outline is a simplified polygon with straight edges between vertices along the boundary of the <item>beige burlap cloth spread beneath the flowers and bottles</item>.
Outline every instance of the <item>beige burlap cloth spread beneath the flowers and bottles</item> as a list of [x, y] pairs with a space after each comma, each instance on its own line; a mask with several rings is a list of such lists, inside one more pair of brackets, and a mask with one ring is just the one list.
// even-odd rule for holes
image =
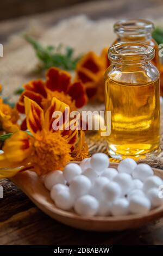
[[[58, 25], [43, 29], [42, 25], [31, 22], [27, 32], [36, 36], [45, 44], [58, 45], [60, 43], [75, 48], [76, 54], [87, 51], [100, 53], [103, 47], [111, 45], [115, 39], [112, 31], [114, 20], [90, 21], [85, 16], [72, 17], [61, 21]], [[4, 57], [0, 59], [0, 83], [3, 84], [3, 95], [13, 97], [16, 88], [23, 83], [40, 77], [34, 70], [37, 65], [34, 51], [22, 38], [21, 33], [14, 34], [4, 45]], [[103, 105], [87, 105], [87, 109], [104, 109]], [[152, 136], [152, 135], [151, 135]], [[87, 133], [87, 143], [89, 144], [90, 154], [96, 152], [107, 153], [107, 144], [104, 137], [99, 137], [95, 133]], [[141, 161], [141, 160], [140, 160]], [[161, 153], [157, 156], [148, 154], [142, 160], [151, 164], [153, 167], [163, 169], [163, 106], [161, 105]]]

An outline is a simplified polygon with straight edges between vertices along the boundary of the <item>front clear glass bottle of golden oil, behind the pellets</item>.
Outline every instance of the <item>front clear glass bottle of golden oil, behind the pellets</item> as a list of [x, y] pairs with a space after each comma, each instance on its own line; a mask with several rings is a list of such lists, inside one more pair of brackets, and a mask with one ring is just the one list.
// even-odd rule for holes
[[109, 48], [105, 72], [105, 110], [111, 111], [110, 156], [140, 156], [159, 150], [159, 72], [151, 63], [154, 47], [121, 42]]

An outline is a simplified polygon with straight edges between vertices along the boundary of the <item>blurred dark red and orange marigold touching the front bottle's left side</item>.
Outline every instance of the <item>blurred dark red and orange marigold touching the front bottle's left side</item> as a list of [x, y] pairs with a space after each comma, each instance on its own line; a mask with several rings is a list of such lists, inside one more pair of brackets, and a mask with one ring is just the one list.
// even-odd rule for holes
[[101, 56], [88, 52], [79, 60], [76, 78], [83, 82], [89, 99], [104, 101], [104, 73], [108, 66], [108, 48], [103, 49]]

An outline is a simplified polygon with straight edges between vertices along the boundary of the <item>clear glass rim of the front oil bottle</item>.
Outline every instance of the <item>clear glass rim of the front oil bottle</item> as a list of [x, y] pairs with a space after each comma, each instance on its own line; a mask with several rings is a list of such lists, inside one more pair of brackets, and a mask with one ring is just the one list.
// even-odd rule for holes
[[143, 42], [118, 42], [108, 50], [108, 58], [115, 63], [146, 63], [151, 61], [154, 55], [154, 47]]

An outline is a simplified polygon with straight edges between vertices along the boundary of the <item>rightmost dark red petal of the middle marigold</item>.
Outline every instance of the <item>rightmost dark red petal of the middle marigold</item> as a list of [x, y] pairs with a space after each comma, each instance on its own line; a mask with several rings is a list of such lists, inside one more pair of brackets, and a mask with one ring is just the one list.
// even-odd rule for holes
[[77, 108], [83, 107], [87, 102], [86, 92], [81, 82], [73, 83], [68, 90], [68, 94], [72, 97], [72, 100], [75, 100]]

